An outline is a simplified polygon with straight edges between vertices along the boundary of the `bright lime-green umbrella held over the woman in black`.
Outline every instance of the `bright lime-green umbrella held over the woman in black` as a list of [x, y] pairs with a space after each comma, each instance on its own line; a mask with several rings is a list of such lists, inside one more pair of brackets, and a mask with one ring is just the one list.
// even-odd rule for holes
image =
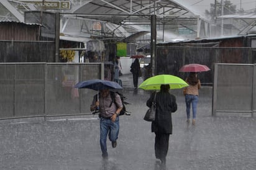
[[160, 90], [161, 84], [170, 84], [170, 89], [181, 89], [188, 86], [188, 84], [177, 76], [169, 74], [161, 74], [146, 79], [139, 88], [144, 90]]

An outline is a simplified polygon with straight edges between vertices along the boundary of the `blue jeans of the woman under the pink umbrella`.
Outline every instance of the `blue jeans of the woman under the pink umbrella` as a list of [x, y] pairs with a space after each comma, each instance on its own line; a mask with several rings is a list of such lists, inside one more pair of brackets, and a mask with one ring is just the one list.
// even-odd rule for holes
[[186, 101], [186, 117], [190, 119], [190, 107], [192, 104], [193, 119], [196, 119], [196, 107], [198, 105], [198, 96], [186, 94], [185, 101]]

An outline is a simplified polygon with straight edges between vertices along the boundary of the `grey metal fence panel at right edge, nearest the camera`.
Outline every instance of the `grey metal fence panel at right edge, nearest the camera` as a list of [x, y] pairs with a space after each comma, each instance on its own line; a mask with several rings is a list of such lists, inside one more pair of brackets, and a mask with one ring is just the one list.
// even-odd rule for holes
[[217, 113], [254, 115], [255, 66], [224, 63], [214, 65], [213, 115]]

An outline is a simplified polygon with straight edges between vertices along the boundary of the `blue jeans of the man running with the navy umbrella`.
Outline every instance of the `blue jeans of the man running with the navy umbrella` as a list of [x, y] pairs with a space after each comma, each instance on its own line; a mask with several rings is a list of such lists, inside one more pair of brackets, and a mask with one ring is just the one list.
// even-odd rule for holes
[[107, 134], [109, 135], [110, 141], [116, 141], [119, 134], [119, 117], [116, 118], [115, 122], [111, 119], [105, 119], [101, 117], [99, 128], [100, 132], [100, 144], [103, 156], [107, 156]]

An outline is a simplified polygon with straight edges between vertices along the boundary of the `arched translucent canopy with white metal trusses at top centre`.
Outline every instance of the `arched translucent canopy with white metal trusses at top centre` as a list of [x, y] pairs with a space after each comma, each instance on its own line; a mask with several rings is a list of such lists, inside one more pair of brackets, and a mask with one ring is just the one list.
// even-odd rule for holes
[[[196, 24], [199, 14], [175, 0], [149, 1], [86, 1], [72, 14], [88, 14], [86, 18], [114, 24], [149, 24], [150, 15], [157, 15], [159, 24]], [[85, 16], [83, 16], [85, 17]]]

